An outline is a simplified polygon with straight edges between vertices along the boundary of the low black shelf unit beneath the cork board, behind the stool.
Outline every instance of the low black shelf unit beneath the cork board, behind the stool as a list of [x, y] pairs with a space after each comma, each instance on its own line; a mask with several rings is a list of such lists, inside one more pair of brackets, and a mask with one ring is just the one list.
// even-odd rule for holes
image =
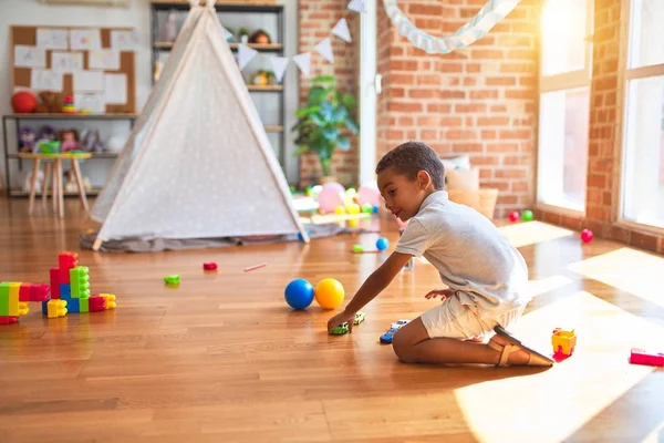
[[[22, 159], [19, 158], [19, 146], [13, 145], [9, 141], [9, 122], [14, 123], [13, 132], [15, 134], [17, 142], [20, 138], [21, 125], [24, 122], [49, 122], [53, 124], [53, 122], [72, 122], [72, 121], [103, 121], [103, 122], [112, 122], [112, 121], [127, 121], [129, 123], [129, 128], [134, 126], [134, 122], [136, 120], [136, 114], [9, 114], [2, 116], [2, 130], [3, 130], [3, 153], [4, 153], [4, 176], [6, 176], [6, 188], [8, 197], [25, 197], [28, 193], [21, 189], [12, 189], [11, 187], [11, 164], [12, 162], [19, 162], [19, 169], [22, 167]], [[94, 153], [92, 158], [89, 161], [100, 159], [100, 158], [116, 158], [120, 154], [114, 152], [105, 152], [105, 153]], [[90, 189], [86, 194], [87, 196], [95, 196], [101, 192], [101, 188], [95, 187]], [[65, 196], [77, 195], [76, 193], [64, 193]]]

